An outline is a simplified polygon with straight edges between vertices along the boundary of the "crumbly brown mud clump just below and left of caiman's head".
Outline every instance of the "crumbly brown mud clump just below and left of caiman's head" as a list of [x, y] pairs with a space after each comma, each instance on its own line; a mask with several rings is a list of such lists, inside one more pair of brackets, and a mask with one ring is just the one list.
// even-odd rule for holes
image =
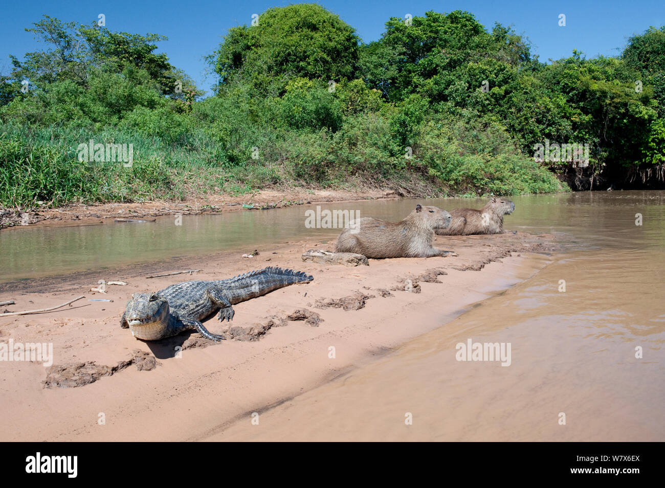
[[116, 366], [98, 365], [94, 361], [53, 365], [49, 368], [42, 385], [44, 388], [53, 388], [54, 386], [58, 388], [76, 388], [76, 386], [94, 383], [102, 376], [112, 376], [131, 365], [135, 365], [139, 371], [150, 371], [160, 364], [150, 353], [136, 350], [132, 353], [130, 359], [120, 361]]

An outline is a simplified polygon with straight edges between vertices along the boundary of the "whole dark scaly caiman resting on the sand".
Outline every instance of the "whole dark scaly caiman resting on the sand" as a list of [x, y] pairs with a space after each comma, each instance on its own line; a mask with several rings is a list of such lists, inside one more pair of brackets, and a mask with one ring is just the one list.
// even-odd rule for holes
[[170, 285], [156, 293], [134, 293], [122, 314], [120, 327], [129, 327], [136, 339], [144, 341], [164, 339], [191, 329], [206, 339], [222, 341], [223, 335], [209, 332], [201, 321], [219, 310], [217, 319], [229, 322], [235, 314], [231, 305], [312, 280], [313, 276], [303, 272], [269, 267], [228, 280], [194, 280]]

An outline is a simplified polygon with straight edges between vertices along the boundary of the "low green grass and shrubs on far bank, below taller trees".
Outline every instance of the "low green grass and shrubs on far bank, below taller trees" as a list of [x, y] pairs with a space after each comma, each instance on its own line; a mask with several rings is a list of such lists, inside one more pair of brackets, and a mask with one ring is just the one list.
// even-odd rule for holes
[[[139, 107], [98, 129], [10, 120], [0, 126], [0, 206], [235, 196], [271, 187], [412, 188], [422, 196], [562, 190], [501, 129], [465, 132], [434, 121], [408, 127], [408, 139], [406, 125], [390, 115], [360, 113], [345, 116], [336, 131], [303, 130], [282, 123], [278, 109], [270, 120], [257, 116], [262, 108], [213, 98], [192, 114]], [[412, 141], [412, 157], [400, 137]], [[132, 167], [79, 162], [77, 147], [90, 139], [132, 144]]]

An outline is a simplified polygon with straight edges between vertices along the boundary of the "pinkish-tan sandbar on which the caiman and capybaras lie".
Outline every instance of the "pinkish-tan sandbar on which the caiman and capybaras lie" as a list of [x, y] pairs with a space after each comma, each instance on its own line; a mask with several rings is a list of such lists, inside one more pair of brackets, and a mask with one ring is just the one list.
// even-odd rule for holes
[[[86, 274], [3, 290], [0, 301], [17, 300], [17, 305], [7, 307], [11, 311], [49, 307], [81, 294], [86, 299], [52, 313], [0, 317], [0, 341], [53, 343], [54, 365], [94, 361], [95, 366], [88, 366], [97, 368], [96, 372], [103, 372], [99, 366], [116, 366], [131, 357], [155, 357], [158, 365], [150, 369], [148, 364], [148, 370], [129, 365], [84, 386], [45, 388], [49, 368], [0, 361], [2, 440], [214, 438], [234, 420], [249, 419], [252, 412], [261, 413], [441, 327], [472, 303], [520, 282], [548, 262], [543, 254], [525, 253], [553, 248], [551, 236], [440, 236], [435, 245], [456, 250], [458, 257], [370, 260], [370, 266], [346, 268], [302, 262], [302, 252], [322, 247], [317, 244], [291, 242], [259, 249], [261, 254], [252, 259], [237, 254], [188, 259], [188, 268], [203, 270], [196, 275], [202, 280], [229, 278], [265, 266], [313, 274], [311, 284], [286, 287], [235, 305], [231, 326], [238, 328], [230, 335], [258, 339], [253, 341], [229, 339], [196, 347], [201, 341], [194, 333], [144, 343], [120, 329], [118, 321], [131, 293], [192, 279], [186, 275], [145, 278], [158, 268], [163, 272], [183, 269], [173, 263], [105, 275], [106, 280], [128, 282], [108, 286], [106, 295], [88, 292], [96, 281], [86, 282]], [[436, 276], [440, 283], [432, 282]], [[403, 285], [405, 278], [418, 281], [421, 293], [394, 290], [383, 296], [382, 290]], [[355, 297], [350, 310], [317, 305], [320, 300], [347, 296]], [[114, 301], [88, 302], [90, 298]], [[318, 313], [323, 321], [314, 327], [305, 321], [280, 320], [303, 308]], [[277, 317], [275, 325], [285, 325], [261, 333], [271, 317]], [[228, 326], [211, 320], [207, 327], [219, 332]], [[178, 346], [192, 347], [184, 349], [182, 357], [174, 357]], [[329, 357], [330, 347], [334, 347], [334, 359]], [[72, 381], [86, 382], [82, 377]], [[98, 422], [102, 417], [104, 424]]]

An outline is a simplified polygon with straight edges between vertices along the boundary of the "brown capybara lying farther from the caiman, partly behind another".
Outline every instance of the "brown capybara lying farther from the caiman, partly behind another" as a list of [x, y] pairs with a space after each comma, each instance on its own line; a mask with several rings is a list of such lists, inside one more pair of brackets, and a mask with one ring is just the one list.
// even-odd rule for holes
[[494, 197], [480, 210], [456, 208], [450, 212], [452, 222], [444, 229], [437, 229], [440, 236], [470, 236], [471, 234], [503, 234], [503, 216], [511, 214], [515, 204]]

